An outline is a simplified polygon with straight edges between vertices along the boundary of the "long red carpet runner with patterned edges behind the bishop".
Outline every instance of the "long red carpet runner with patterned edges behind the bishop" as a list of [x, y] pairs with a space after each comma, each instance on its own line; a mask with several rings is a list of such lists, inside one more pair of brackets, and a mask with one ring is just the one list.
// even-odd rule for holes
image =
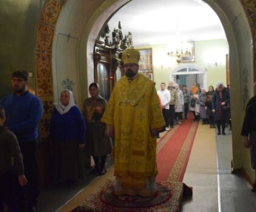
[[157, 181], [180, 181], [185, 174], [198, 122], [182, 120], [157, 143]]

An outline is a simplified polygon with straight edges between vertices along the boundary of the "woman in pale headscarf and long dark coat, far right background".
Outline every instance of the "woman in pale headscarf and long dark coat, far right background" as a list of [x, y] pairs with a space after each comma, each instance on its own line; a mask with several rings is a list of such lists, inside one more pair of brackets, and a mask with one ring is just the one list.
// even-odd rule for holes
[[212, 112], [217, 124], [218, 134], [225, 135], [227, 116], [229, 114], [229, 91], [224, 87], [223, 82], [218, 82], [212, 96]]

